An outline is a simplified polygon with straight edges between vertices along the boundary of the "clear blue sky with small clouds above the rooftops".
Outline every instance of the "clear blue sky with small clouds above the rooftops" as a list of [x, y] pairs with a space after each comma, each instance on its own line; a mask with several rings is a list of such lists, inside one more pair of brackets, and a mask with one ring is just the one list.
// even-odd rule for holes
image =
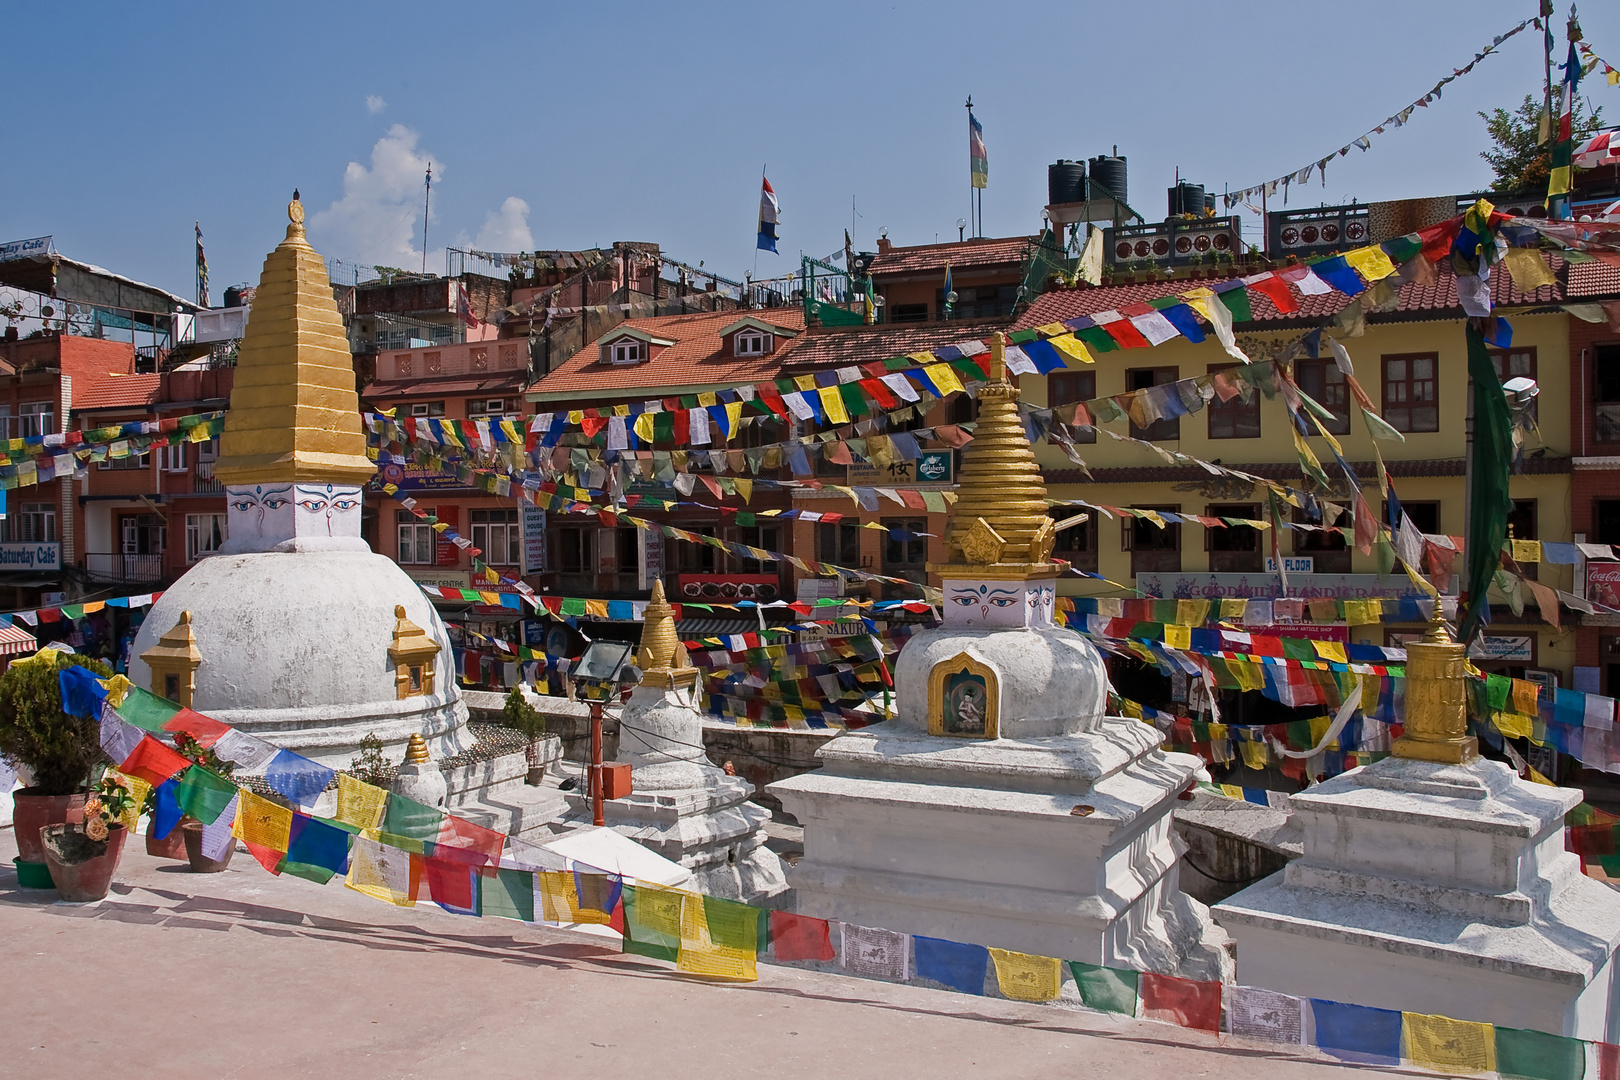
[[[1581, 23], [1620, 63], [1620, 5]], [[330, 257], [421, 266], [442, 248], [659, 243], [740, 277], [760, 167], [781, 256], [956, 233], [972, 94], [990, 147], [985, 232], [1035, 232], [1045, 168], [1118, 144], [1131, 201], [1298, 170], [1411, 104], [1534, 0], [1171, 3], [16, 5], [0, 240], [214, 300], [256, 280], [301, 188]], [[1563, 15], [1557, 16], [1560, 37]], [[1620, 123], [1620, 89], [1594, 79]], [[1489, 181], [1474, 115], [1541, 92], [1539, 34], [1487, 57], [1413, 123], [1312, 178], [1293, 206]]]

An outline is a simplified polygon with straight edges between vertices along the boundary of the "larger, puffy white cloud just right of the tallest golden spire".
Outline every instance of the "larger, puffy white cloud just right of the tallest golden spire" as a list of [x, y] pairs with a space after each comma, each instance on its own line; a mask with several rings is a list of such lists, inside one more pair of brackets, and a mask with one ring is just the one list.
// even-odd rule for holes
[[[416, 131], [397, 123], [371, 147], [369, 168], [360, 162], [348, 164], [343, 198], [309, 219], [309, 232], [324, 254], [377, 266], [421, 267], [415, 238], [421, 235], [416, 210], [423, 201], [423, 178], [429, 164], [434, 180], [444, 167], [416, 149], [418, 138]], [[428, 264], [437, 261], [429, 253]]]

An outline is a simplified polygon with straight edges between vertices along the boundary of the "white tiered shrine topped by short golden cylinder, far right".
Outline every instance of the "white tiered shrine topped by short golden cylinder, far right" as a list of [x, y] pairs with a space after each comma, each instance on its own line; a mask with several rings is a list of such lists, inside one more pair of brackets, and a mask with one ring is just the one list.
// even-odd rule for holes
[[1291, 798], [1304, 857], [1215, 907], [1238, 980], [1612, 1043], [1620, 894], [1563, 850], [1581, 792], [1479, 756], [1466, 664], [1437, 615], [1392, 756]]

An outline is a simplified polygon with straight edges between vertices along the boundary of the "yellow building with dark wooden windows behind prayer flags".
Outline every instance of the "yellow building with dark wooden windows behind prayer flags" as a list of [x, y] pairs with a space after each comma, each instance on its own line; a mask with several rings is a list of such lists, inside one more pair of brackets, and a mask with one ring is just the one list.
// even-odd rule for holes
[[[1019, 317], [1016, 329], [1030, 329], [1072, 321], [1103, 311], [1128, 309], [1149, 300], [1186, 293], [1212, 280], [1152, 280], [1105, 283], [1095, 288], [1059, 290], [1040, 296]], [[1511, 288], [1508, 274], [1494, 280], [1497, 314], [1511, 322], [1511, 347], [1492, 350], [1502, 377], [1526, 376], [1541, 389], [1536, 411], [1542, 418], [1537, 432], [1524, 439], [1524, 468], [1511, 481], [1515, 513], [1511, 534], [1518, 539], [1571, 541], [1570, 518], [1570, 316], [1552, 306], [1558, 303], [1562, 285], [1541, 287], [1523, 295]], [[1464, 525], [1464, 450], [1468, 439], [1468, 356], [1464, 317], [1456, 300], [1456, 279], [1445, 266], [1437, 267], [1432, 282], [1413, 280], [1400, 288], [1398, 304], [1383, 314], [1369, 314], [1364, 330], [1345, 337], [1330, 325], [1335, 313], [1349, 301], [1340, 293], [1304, 296], [1301, 311], [1280, 314], [1268, 300], [1251, 293], [1254, 319], [1234, 325], [1238, 345], [1256, 364], [1277, 361], [1302, 335], [1327, 325], [1353, 363], [1354, 377], [1383, 415], [1385, 421], [1405, 434], [1405, 442], [1382, 440], [1388, 476], [1401, 507], [1421, 531], [1435, 538], [1440, 570], [1445, 541], [1456, 538], [1461, 547]], [[1129, 313], [1128, 313], [1129, 314]], [[1358, 327], [1359, 329], [1359, 327]], [[1119, 348], [1095, 353], [1094, 366], [1071, 361], [1069, 368], [1047, 376], [1024, 376], [1024, 400], [1035, 406], [1066, 405], [1126, 395], [1145, 387], [1187, 379], [1204, 379], [1238, 361], [1215, 340], [1202, 343], [1176, 337], [1152, 348]], [[1327, 424], [1343, 445], [1345, 457], [1359, 478], [1361, 494], [1380, 523], [1388, 521], [1374, 453], [1374, 439], [1354, 406], [1354, 395], [1340, 366], [1328, 351], [1327, 337], [1319, 356], [1296, 356], [1285, 361], [1299, 387], [1327, 406], [1336, 423]], [[1226, 382], [1226, 379], [1223, 379]], [[1256, 476], [1312, 491], [1327, 504], [1349, 508], [1354, 492], [1343, 470], [1333, 460], [1327, 440], [1307, 440], [1322, 461], [1330, 484], [1325, 491], [1306, 479], [1306, 470], [1290, 434], [1290, 415], [1281, 395], [1267, 397], [1252, 390], [1223, 400], [1228, 387], [1202, 395], [1176, 397], [1179, 406], [1199, 408], [1176, 418], [1157, 419], [1145, 427], [1128, 418], [1100, 423], [1119, 436], [1152, 442], [1202, 461], [1217, 463]], [[1163, 393], [1163, 392], [1162, 392]], [[1204, 400], [1200, 402], [1199, 397]], [[1116, 398], [1118, 400], [1118, 398]], [[1129, 400], [1124, 402], [1129, 405]], [[1095, 410], [1094, 410], [1095, 411]], [[1106, 406], [1105, 406], [1105, 411]], [[1090, 504], [1094, 507], [1132, 507], [1158, 515], [1197, 515], [1207, 518], [1267, 520], [1267, 489], [1230, 476], [1215, 476], [1192, 463], [1166, 463], [1152, 447], [1134, 445], [1092, 436], [1094, 442], [1077, 444], [1076, 452], [1085, 468], [1076, 465], [1058, 445], [1045, 444], [1040, 460], [1053, 499]], [[1304, 512], [1281, 507], [1301, 523], [1312, 521]], [[1068, 510], [1055, 510], [1069, 517]], [[1268, 531], [1246, 526], [1209, 528], [1194, 521], [1158, 528], [1149, 520], [1094, 513], [1082, 526], [1069, 529], [1059, 541], [1059, 557], [1076, 567], [1132, 585], [1142, 593], [1176, 597], [1254, 597], [1272, 599], [1285, 594], [1281, 576], [1272, 562], [1273, 544]], [[1351, 515], [1340, 521], [1346, 529]], [[1400, 570], [1393, 576], [1379, 575], [1377, 547], [1371, 554], [1354, 551], [1343, 536], [1322, 531], [1288, 529], [1278, 534], [1275, 554], [1286, 562], [1288, 597], [1371, 599], [1422, 596]], [[1427, 563], [1427, 560], [1426, 560]], [[1453, 575], [1461, 575], [1464, 560], [1458, 555]], [[1565, 593], [1575, 588], [1573, 565], [1536, 563], [1526, 567], [1541, 585]], [[1455, 596], [1456, 578], [1447, 581], [1434, 575], [1442, 591]], [[1108, 589], [1102, 581], [1066, 578], [1063, 591], [1072, 596], [1134, 596]], [[1534, 597], [1526, 591], [1523, 615], [1513, 615], [1507, 599], [1494, 594], [1492, 623], [1487, 636], [1476, 644], [1476, 662], [1486, 670], [1523, 675], [1526, 670], [1558, 672], [1562, 685], [1570, 685], [1575, 644], [1570, 614], [1555, 630], [1539, 619]], [[1393, 606], [1390, 606], [1393, 607]], [[1421, 625], [1392, 622], [1395, 612], [1377, 625], [1349, 627], [1348, 640], [1359, 644], [1403, 644]], [[1280, 633], [1280, 631], [1268, 631]]]

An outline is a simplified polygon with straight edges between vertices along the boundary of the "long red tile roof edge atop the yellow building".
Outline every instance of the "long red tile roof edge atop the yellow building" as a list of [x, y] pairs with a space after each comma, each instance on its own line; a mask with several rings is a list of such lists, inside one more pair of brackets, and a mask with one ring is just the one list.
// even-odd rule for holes
[[[1562, 277], [1563, 259], [1555, 254], [1544, 256], [1550, 261], [1554, 274]], [[1016, 330], [1024, 330], [1029, 327], [1045, 325], [1048, 322], [1061, 322], [1064, 319], [1074, 319], [1077, 316], [1090, 316], [1098, 311], [1118, 311], [1126, 304], [1147, 303], [1150, 300], [1158, 300], [1160, 296], [1176, 296], [1194, 290], [1200, 285], [1209, 287], [1217, 282], [1230, 280], [1228, 277], [1205, 277], [1205, 279], [1189, 279], [1174, 282], [1137, 282], [1131, 285], [1100, 285], [1100, 287], [1082, 287], [1082, 288], [1064, 288], [1051, 293], [1043, 293], [1035, 300], [1029, 309], [1019, 316]], [[1281, 325], [1309, 325], [1320, 322], [1324, 319], [1336, 314], [1349, 300], [1338, 291], [1324, 293], [1319, 296], [1301, 296], [1296, 290], [1294, 298], [1299, 301], [1299, 311], [1281, 316], [1277, 308], [1272, 306], [1260, 293], [1249, 291], [1249, 306], [1254, 313], [1254, 322], [1244, 325], [1256, 325], [1260, 322], [1275, 322]], [[1490, 277], [1490, 300], [1497, 306], [1528, 306], [1528, 304], [1555, 304], [1563, 303], [1563, 285], [1542, 285], [1531, 293], [1521, 293], [1513, 287], [1513, 279], [1505, 266], [1495, 267]], [[1401, 287], [1401, 301], [1398, 313], [1374, 314], [1369, 316], [1371, 322], [1392, 321], [1398, 314], [1413, 316], [1418, 313], [1427, 313], [1427, 317], [1447, 319], [1463, 317], [1463, 306], [1456, 300], [1456, 275], [1447, 262], [1435, 264], [1435, 279], [1429, 285], [1421, 285], [1411, 282]]]

